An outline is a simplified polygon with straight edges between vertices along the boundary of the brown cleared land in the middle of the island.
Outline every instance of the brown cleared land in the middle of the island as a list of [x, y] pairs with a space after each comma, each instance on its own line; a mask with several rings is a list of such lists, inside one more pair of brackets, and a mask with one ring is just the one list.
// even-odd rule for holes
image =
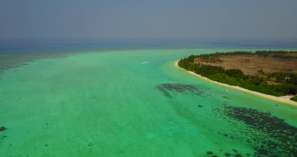
[[[297, 56], [297, 54], [289, 54]], [[258, 55], [223, 55], [220, 56], [222, 62], [210, 62], [200, 58], [195, 59], [195, 63], [201, 62], [205, 65], [222, 66], [225, 69], [241, 69], [245, 74], [259, 75], [258, 70], [265, 73], [272, 72], [292, 72], [297, 73], [297, 59], [281, 59], [274, 57], [264, 57]], [[265, 77], [265, 76], [264, 76]]]

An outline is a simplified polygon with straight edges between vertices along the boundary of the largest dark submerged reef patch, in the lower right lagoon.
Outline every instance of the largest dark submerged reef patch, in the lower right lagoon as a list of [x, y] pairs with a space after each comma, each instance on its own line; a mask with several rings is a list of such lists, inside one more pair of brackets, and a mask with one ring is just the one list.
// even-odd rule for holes
[[[235, 138], [244, 140], [256, 156], [297, 156], [297, 128], [269, 112], [228, 106], [213, 108], [221, 118], [235, 120], [232, 127], [240, 129]], [[247, 153], [250, 155], [250, 153]], [[237, 154], [240, 156], [240, 154]]]

